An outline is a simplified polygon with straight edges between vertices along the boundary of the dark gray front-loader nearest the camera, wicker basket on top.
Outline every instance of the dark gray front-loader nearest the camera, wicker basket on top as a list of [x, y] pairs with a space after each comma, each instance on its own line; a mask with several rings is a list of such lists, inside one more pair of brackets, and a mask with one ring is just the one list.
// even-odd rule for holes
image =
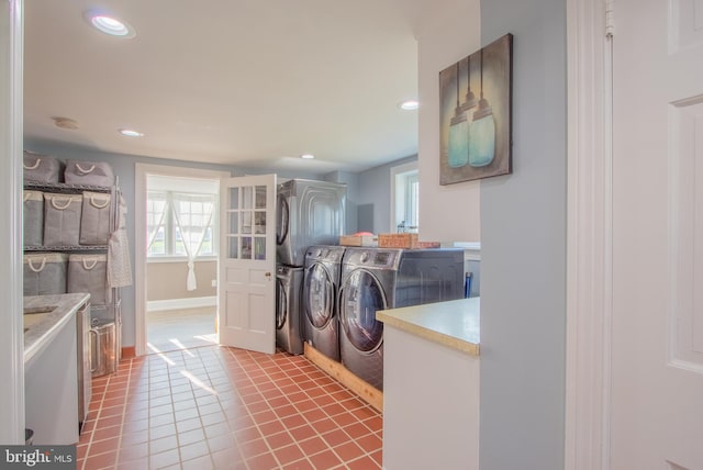
[[347, 248], [338, 294], [342, 363], [383, 390], [383, 323], [376, 312], [462, 296], [462, 249]]

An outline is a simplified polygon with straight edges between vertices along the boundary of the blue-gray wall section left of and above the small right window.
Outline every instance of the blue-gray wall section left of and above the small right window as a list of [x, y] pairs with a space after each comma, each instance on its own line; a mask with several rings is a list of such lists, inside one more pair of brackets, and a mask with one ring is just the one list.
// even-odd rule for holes
[[[391, 168], [417, 161], [417, 156], [401, 158], [358, 174], [359, 191], [355, 201], [358, 213], [358, 231], [392, 233], [391, 228]], [[421, 189], [422, 191], [422, 189]], [[356, 231], [355, 231], [356, 232]]]

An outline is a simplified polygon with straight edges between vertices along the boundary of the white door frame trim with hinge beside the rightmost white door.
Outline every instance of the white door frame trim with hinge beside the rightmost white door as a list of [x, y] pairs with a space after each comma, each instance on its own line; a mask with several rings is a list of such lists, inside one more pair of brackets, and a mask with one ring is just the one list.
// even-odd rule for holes
[[613, 0], [567, 0], [565, 469], [610, 469]]

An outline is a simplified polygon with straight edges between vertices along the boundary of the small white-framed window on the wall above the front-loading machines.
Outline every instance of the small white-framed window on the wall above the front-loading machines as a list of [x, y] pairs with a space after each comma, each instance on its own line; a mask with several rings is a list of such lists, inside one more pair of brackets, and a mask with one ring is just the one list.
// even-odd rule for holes
[[417, 164], [406, 164], [391, 169], [391, 230], [414, 232], [420, 227], [420, 180]]

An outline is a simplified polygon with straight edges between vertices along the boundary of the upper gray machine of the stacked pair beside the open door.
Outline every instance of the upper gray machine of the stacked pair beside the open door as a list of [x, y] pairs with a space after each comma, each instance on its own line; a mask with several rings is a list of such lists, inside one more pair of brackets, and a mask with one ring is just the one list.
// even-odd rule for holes
[[291, 179], [278, 186], [276, 254], [278, 262], [303, 266], [313, 245], [338, 245], [344, 235], [347, 187], [330, 181]]

